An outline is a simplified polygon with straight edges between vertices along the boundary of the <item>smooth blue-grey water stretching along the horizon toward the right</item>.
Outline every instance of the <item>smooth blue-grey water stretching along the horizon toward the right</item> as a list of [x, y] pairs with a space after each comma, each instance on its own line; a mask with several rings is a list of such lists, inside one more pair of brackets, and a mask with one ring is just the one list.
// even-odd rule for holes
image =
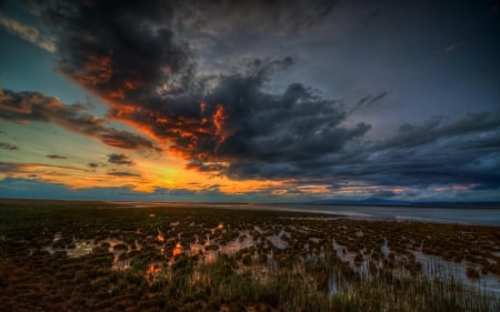
[[[123, 203], [123, 202], [122, 202]], [[336, 214], [366, 220], [408, 220], [500, 227], [499, 208], [432, 208], [432, 207], [383, 207], [383, 205], [329, 205], [329, 204], [238, 204], [238, 203], [167, 203], [128, 202], [136, 207], [199, 207], [296, 211]]]

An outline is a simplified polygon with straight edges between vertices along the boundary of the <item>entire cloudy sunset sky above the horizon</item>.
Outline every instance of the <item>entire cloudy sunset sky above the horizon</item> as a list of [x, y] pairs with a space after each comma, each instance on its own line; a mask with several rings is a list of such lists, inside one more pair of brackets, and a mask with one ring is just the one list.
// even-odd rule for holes
[[498, 0], [0, 0], [0, 198], [500, 201]]

